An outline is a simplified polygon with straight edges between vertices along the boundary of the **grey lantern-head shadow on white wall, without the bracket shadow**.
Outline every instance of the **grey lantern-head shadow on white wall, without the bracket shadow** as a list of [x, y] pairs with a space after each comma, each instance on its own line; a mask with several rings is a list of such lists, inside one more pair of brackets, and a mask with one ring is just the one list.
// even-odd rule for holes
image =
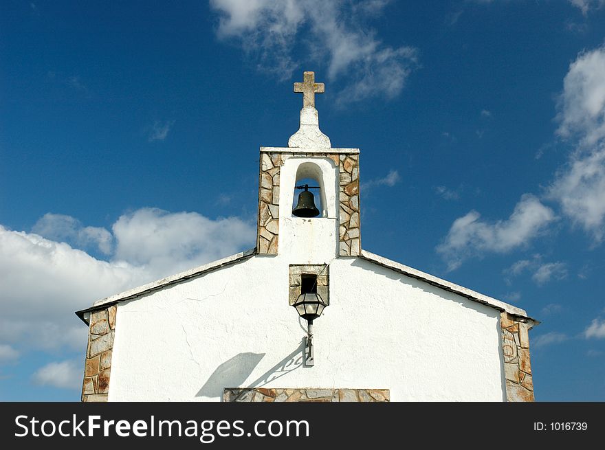
[[210, 378], [195, 394], [196, 397], [222, 397], [223, 388], [239, 386], [261, 362], [265, 353], [239, 353], [212, 372]]

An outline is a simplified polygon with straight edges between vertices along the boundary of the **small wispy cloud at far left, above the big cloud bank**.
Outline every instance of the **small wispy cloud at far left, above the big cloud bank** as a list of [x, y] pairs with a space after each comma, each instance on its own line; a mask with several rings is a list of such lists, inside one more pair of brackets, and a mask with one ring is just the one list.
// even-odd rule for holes
[[64, 214], [44, 214], [32, 227], [32, 232], [50, 240], [66, 242], [80, 248], [94, 245], [103, 254], [110, 254], [113, 236], [102, 227], [83, 227], [72, 216]]

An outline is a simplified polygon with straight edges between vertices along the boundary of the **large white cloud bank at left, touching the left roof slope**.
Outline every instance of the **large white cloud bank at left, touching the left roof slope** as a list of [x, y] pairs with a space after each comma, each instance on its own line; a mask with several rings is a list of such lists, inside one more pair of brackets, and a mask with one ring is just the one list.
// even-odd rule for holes
[[[77, 222], [65, 217], [42, 223], [50, 223], [47, 229], [58, 236], [61, 223], [69, 231]], [[87, 330], [74, 311], [252, 247], [254, 226], [239, 218], [213, 221], [197, 213], [143, 209], [115, 222], [113, 240], [115, 250], [104, 261], [67, 243], [0, 225], [0, 341], [83, 351]]]

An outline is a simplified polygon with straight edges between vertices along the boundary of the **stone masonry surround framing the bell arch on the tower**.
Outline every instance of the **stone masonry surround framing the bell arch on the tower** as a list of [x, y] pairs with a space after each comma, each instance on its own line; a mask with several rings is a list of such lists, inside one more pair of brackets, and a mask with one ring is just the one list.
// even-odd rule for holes
[[339, 172], [340, 256], [361, 252], [359, 155], [356, 153], [267, 153], [261, 152], [259, 180], [259, 221], [256, 252], [276, 255], [279, 237], [279, 172], [293, 155], [329, 157]]

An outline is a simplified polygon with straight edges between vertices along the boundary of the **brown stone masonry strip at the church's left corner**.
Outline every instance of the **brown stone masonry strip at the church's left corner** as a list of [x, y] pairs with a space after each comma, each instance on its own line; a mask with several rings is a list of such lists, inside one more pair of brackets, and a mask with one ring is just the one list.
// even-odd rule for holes
[[116, 313], [118, 313], [118, 305], [109, 306], [109, 308], [90, 314], [82, 386], [82, 401], [84, 402], [107, 401]]

